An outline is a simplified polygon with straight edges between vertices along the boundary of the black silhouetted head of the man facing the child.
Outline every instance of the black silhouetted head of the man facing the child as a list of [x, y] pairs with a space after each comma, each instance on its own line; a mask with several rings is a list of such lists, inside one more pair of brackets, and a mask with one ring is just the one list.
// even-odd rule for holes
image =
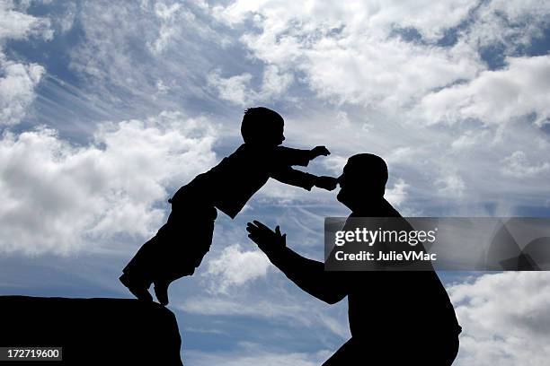
[[338, 178], [336, 198], [352, 211], [384, 196], [387, 182], [386, 161], [371, 153], [359, 153], [348, 159]]

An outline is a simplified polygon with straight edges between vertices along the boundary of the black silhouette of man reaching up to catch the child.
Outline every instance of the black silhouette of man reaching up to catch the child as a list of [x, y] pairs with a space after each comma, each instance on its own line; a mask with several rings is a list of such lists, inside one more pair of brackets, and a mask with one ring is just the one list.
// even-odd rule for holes
[[[386, 181], [386, 162], [380, 157], [350, 157], [338, 179], [337, 196], [352, 211], [349, 218], [402, 217], [384, 198]], [[324, 271], [322, 262], [288, 248], [279, 226], [271, 231], [254, 221], [247, 231], [271, 263], [302, 290], [329, 304], [348, 296], [351, 338], [324, 366], [439, 366], [456, 358], [462, 328], [434, 271]]]

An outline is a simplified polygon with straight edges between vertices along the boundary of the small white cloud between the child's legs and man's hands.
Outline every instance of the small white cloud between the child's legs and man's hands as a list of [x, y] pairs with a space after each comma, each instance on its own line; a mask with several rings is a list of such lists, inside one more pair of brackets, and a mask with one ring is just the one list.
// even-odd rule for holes
[[271, 266], [260, 250], [242, 250], [239, 244], [230, 245], [221, 255], [208, 260], [205, 274], [214, 293], [227, 293], [232, 287], [241, 286], [256, 278], [265, 277]]

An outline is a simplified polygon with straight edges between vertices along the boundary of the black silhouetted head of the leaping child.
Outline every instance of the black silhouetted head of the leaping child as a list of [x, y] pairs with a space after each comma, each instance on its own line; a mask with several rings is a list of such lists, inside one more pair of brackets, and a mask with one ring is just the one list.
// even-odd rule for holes
[[245, 144], [278, 146], [285, 140], [285, 121], [279, 113], [264, 107], [249, 108], [244, 111], [241, 135]]

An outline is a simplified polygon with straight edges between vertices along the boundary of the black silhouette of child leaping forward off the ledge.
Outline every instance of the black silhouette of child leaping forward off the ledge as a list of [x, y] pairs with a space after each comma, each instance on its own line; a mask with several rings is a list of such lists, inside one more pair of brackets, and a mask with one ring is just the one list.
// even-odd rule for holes
[[244, 144], [211, 170], [198, 175], [168, 200], [172, 212], [168, 221], [129, 261], [120, 282], [138, 299], [152, 301], [148, 292], [155, 284], [156, 299], [168, 303], [168, 285], [200, 266], [212, 242], [217, 209], [235, 218], [246, 202], [268, 179], [277, 179], [310, 190], [333, 190], [336, 179], [317, 177], [293, 165], [307, 166], [330, 152], [324, 146], [311, 150], [281, 146], [284, 120], [263, 107], [247, 109], [241, 125]]

